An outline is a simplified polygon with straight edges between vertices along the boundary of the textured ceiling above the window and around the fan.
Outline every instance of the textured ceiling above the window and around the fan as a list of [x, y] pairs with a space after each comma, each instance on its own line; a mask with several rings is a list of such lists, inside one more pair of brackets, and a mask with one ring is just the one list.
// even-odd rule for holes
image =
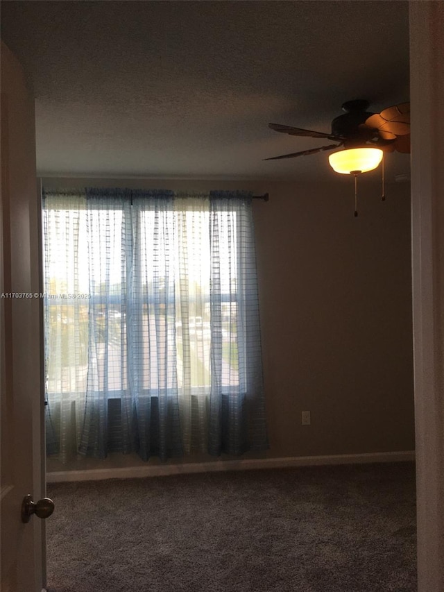
[[328, 180], [327, 153], [263, 162], [325, 143], [267, 124], [330, 131], [349, 99], [408, 101], [407, 5], [14, 0], [1, 28], [33, 80], [42, 175]]

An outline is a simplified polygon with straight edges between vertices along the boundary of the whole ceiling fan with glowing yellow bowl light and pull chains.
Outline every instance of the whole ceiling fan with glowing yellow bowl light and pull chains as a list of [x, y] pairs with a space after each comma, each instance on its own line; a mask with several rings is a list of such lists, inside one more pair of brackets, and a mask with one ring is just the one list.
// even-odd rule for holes
[[328, 160], [336, 173], [355, 176], [355, 216], [357, 216], [358, 174], [373, 171], [382, 162], [382, 199], [384, 201], [384, 152], [410, 152], [410, 103], [393, 105], [380, 113], [368, 111], [369, 105], [370, 103], [364, 99], [343, 103], [344, 114], [333, 119], [331, 133], [268, 124], [268, 127], [277, 132], [327, 138], [336, 144], [291, 152], [264, 160], [296, 158], [296, 156], [307, 156], [339, 148], [340, 150], [330, 154]]

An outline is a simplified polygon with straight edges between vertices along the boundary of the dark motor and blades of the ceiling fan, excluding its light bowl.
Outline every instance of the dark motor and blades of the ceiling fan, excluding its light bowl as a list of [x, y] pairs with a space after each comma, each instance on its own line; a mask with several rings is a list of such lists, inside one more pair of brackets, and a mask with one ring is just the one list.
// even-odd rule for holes
[[[268, 124], [269, 128], [277, 132], [298, 136], [327, 138], [333, 140], [336, 144], [328, 144], [327, 146], [320, 146], [319, 148], [302, 150], [300, 152], [291, 152], [282, 156], [265, 158], [264, 160], [295, 158], [296, 156], [306, 156], [341, 147], [343, 147], [343, 151], [356, 148], [376, 148], [384, 152], [398, 151], [408, 153], [410, 151], [410, 103], [400, 103], [399, 105], [388, 107], [380, 113], [367, 111], [369, 104], [364, 99], [355, 99], [354, 101], [343, 103], [342, 110], [345, 113], [333, 119], [331, 133], [293, 128], [280, 124]], [[362, 169], [359, 170], [364, 172]], [[347, 171], [347, 173], [350, 172], [353, 171]]]

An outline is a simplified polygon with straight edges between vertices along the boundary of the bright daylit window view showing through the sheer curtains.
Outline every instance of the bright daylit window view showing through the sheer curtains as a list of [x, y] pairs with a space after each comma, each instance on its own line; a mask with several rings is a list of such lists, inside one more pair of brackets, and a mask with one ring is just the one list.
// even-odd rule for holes
[[[96, 388], [118, 396], [130, 380], [129, 355], [143, 360], [142, 390], [167, 384], [164, 373], [174, 362], [180, 389], [207, 392], [215, 337], [221, 341], [222, 385], [239, 382], [236, 212], [219, 217], [221, 239], [232, 248], [219, 255], [214, 278], [210, 212], [201, 203], [195, 208], [182, 199], [163, 214], [138, 211], [131, 220], [137, 232], [126, 231], [126, 217], [135, 215], [130, 208], [61, 206], [53, 203], [45, 212], [48, 394], [85, 391], [93, 363]], [[216, 294], [211, 282], [219, 285]], [[212, 298], [220, 314], [213, 323]]]

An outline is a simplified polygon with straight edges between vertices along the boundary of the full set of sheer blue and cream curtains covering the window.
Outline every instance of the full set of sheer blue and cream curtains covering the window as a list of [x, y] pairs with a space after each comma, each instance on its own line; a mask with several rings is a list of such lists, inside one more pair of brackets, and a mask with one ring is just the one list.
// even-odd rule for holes
[[267, 447], [251, 204], [44, 192], [49, 454]]

